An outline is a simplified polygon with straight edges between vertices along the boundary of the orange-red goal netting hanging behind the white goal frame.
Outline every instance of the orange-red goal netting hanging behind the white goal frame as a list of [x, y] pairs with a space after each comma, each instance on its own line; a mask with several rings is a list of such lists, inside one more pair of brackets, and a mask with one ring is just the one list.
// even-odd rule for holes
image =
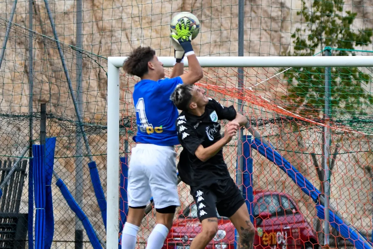
[[[357, 71], [356, 71], [357, 70]], [[198, 85], [207, 95], [223, 105], [238, 108], [264, 139], [277, 149], [303, 176], [323, 193], [323, 184], [330, 180], [330, 203], [355, 228], [366, 236], [372, 230], [372, 89], [365, 82], [357, 82], [352, 74], [372, 76], [368, 68], [332, 68], [332, 101], [330, 116], [330, 178], [325, 179], [323, 121], [324, 68], [276, 69], [245, 68], [243, 88], [238, 88], [238, 69], [205, 68], [204, 79]], [[169, 69], [169, 72], [171, 69]], [[341, 73], [342, 72], [342, 73]], [[350, 72], [350, 76], [348, 76]], [[132, 91], [138, 79], [121, 77], [122, 126], [120, 156], [130, 157], [136, 131]], [[353, 85], [354, 95], [346, 98], [346, 85]], [[361, 86], [356, 89], [356, 85]], [[352, 86], [351, 86], [352, 87]], [[351, 97], [352, 96], [352, 97]], [[224, 124], [225, 122], [223, 122]], [[224, 125], [222, 125], [224, 130]], [[244, 130], [244, 135], [251, 135]], [[125, 145], [128, 144], [128, 149]], [[224, 148], [225, 161], [233, 179], [237, 177], [238, 140], [233, 139]], [[125, 149], [126, 152], [125, 153]], [[178, 154], [182, 148], [177, 148]], [[323, 244], [323, 220], [316, 215], [314, 201], [305, 195], [289, 176], [257, 150], [251, 151], [253, 160], [253, 213], [256, 218], [256, 248], [313, 248]], [[238, 177], [242, 177], [238, 174]], [[242, 180], [238, 182], [242, 182]], [[241, 187], [241, 186], [240, 186]], [[182, 202], [175, 216], [174, 227], [167, 237], [165, 248], [187, 248], [195, 233], [200, 232], [193, 198], [189, 187], [179, 183]], [[270, 218], [260, 220], [258, 213], [267, 211]], [[155, 224], [154, 212], [146, 215], [138, 234], [138, 248], [144, 248]], [[122, 225], [121, 225], [122, 226]], [[233, 248], [234, 229], [229, 220], [221, 218], [219, 229], [225, 236], [211, 241], [214, 248]], [[331, 246], [347, 243], [332, 227], [329, 234]], [[183, 237], [186, 236], [183, 240]], [[223, 236], [220, 234], [220, 236]], [[218, 238], [219, 237], [219, 238]], [[180, 247], [179, 247], [180, 246]]]

